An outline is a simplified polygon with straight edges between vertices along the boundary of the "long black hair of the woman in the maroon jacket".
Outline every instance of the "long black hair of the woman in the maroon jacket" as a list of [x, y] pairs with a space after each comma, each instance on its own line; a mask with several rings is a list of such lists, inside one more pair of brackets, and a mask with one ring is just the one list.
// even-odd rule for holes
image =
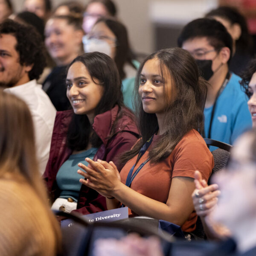
[[[119, 106], [119, 113], [112, 128], [112, 132], [114, 132], [117, 121], [122, 117], [123, 109], [125, 108], [121, 91], [121, 80], [116, 64], [104, 53], [88, 52], [76, 57], [67, 67], [67, 70], [75, 62], [84, 64], [91, 78], [94, 81], [97, 79], [99, 84], [104, 87], [102, 98], [95, 108], [95, 116], [111, 110], [115, 105]], [[79, 151], [87, 148], [89, 142], [93, 147], [99, 147], [102, 144], [102, 140], [92, 130], [87, 115], [74, 114], [67, 132], [67, 146], [72, 150]]]

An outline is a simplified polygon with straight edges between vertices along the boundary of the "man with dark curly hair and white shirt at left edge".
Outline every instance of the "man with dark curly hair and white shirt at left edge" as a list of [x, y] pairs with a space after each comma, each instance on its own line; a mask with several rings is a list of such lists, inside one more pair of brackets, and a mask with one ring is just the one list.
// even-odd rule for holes
[[14, 20], [0, 24], [0, 87], [23, 99], [32, 113], [37, 156], [43, 174], [56, 110], [37, 84], [46, 65], [44, 42], [32, 26]]

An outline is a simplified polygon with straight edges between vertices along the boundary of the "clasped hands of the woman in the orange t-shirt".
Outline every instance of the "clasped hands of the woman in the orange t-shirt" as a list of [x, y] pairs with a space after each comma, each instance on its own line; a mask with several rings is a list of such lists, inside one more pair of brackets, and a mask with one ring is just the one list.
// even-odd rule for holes
[[96, 190], [99, 194], [107, 198], [113, 197], [113, 191], [121, 183], [120, 175], [115, 164], [112, 161], [109, 163], [99, 159], [93, 161], [90, 158], [85, 158], [85, 161], [89, 163], [88, 166], [82, 163], [78, 164], [83, 170], [79, 169], [77, 172], [85, 178], [81, 178], [79, 182]]

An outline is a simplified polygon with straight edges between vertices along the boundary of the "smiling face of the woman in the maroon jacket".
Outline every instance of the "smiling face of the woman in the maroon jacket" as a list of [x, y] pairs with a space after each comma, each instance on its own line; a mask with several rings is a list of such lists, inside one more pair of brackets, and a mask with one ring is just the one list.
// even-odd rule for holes
[[97, 79], [92, 79], [87, 68], [79, 61], [70, 66], [66, 83], [67, 98], [75, 114], [86, 114], [93, 123], [95, 108], [102, 98], [104, 87]]

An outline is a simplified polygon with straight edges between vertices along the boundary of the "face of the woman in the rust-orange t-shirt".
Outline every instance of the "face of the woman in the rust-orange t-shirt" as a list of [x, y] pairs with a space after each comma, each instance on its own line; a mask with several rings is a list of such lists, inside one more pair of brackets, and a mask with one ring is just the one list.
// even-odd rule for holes
[[143, 110], [146, 113], [164, 113], [171, 104], [166, 101], [172, 99], [172, 90], [172, 77], [169, 70], [164, 66], [161, 72], [157, 58], [146, 61], [141, 71], [139, 86]]

